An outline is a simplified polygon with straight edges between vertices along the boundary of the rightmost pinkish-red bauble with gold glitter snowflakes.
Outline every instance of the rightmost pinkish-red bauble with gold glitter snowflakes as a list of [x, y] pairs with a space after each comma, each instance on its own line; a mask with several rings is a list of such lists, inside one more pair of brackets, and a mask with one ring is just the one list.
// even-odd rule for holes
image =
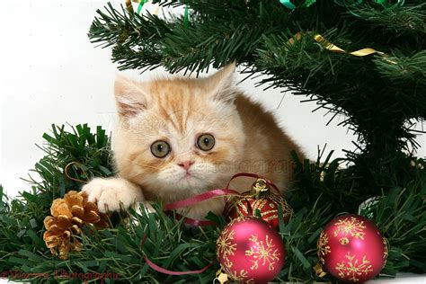
[[386, 239], [368, 218], [342, 215], [334, 218], [318, 239], [318, 258], [325, 271], [346, 282], [374, 278], [385, 266]]

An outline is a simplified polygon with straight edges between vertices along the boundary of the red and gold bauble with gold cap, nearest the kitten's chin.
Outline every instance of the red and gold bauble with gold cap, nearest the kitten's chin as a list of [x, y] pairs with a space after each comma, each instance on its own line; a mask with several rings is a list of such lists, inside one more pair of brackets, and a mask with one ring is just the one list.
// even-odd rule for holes
[[252, 191], [247, 191], [242, 196], [230, 198], [226, 202], [224, 216], [228, 221], [236, 217], [254, 216], [255, 211], [259, 210], [262, 219], [272, 227], [279, 226], [278, 208], [282, 207], [284, 223], [293, 214], [293, 209], [288, 206], [279, 192], [271, 191], [271, 188], [263, 179], [258, 179], [252, 185]]

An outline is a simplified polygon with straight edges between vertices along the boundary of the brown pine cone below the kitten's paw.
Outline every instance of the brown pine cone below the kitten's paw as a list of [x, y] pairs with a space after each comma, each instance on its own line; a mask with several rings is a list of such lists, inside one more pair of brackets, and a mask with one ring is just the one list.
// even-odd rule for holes
[[85, 192], [68, 191], [63, 199], [53, 200], [50, 214], [44, 218], [47, 231], [43, 240], [54, 255], [67, 259], [70, 251], [80, 251], [82, 244], [75, 237], [81, 227], [92, 224], [97, 229], [109, 226], [109, 216], [99, 213], [93, 202], [87, 201]]

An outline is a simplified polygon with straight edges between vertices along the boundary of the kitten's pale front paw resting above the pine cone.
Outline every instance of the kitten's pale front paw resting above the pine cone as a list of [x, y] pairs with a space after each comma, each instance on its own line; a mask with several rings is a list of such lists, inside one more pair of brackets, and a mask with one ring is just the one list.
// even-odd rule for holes
[[95, 178], [84, 185], [88, 200], [97, 204], [100, 212], [124, 209], [144, 201], [142, 189], [135, 183], [121, 178]]

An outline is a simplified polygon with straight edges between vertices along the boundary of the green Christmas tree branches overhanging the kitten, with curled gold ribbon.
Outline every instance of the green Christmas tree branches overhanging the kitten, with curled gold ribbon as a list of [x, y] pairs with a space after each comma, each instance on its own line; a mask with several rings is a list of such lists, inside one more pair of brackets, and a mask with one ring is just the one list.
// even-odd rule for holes
[[395, 185], [395, 159], [417, 146], [413, 120], [426, 118], [426, 4], [281, 2], [173, 2], [190, 9], [191, 21], [110, 5], [89, 36], [113, 45], [120, 69], [200, 72], [235, 61], [249, 75], [266, 74], [262, 83], [287, 87], [347, 118], [342, 125], [359, 136], [359, 155], [347, 158], [364, 177], [357, 186], [363, 197]]

